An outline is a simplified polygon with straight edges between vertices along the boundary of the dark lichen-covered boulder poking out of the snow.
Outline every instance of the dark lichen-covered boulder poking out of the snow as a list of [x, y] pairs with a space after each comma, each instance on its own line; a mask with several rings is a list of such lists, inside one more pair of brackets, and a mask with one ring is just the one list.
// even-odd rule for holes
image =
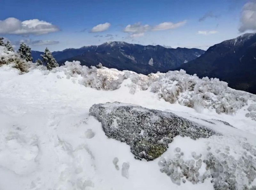
[[136, 159], [154, 160], [163, 154], [177, 135], [208, 138], [211, 129], [170, 112], [120, 102], [94, 104], [90, 115], [101, 123], [105, 134], [131, 146]]

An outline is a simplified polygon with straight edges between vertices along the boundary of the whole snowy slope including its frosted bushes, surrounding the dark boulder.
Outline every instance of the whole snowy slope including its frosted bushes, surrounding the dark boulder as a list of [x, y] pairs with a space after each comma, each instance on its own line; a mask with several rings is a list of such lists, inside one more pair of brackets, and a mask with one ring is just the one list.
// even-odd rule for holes
[[[0, 67], [0, 189], [255, 189], [255, 95], [184, 71], [146, 76], [66, 62], [20, 75], [12, 66]], [[153, 161], [135, 159], [89, 113], [115, 101], [172, 112], [216, 134], [177, 135]]]

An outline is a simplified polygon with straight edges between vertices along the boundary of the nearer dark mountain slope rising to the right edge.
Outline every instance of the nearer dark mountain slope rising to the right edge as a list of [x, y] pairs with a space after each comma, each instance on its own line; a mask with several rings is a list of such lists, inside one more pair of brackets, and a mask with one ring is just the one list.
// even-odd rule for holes
[[231, 88], [256, 94], [256, 34], [247, 33], [211, 46], [177, 69], [190, 75], [219, 78]]

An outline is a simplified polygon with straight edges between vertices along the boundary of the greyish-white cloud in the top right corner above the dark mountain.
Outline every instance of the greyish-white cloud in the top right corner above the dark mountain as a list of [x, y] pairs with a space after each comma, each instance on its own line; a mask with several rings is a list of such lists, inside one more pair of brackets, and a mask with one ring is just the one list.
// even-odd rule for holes
[[241, 26], [238, 29], [239, 32], [256, 30], [256, 2], [248, 2], [244, 5], [241, 12], [240, 22]]

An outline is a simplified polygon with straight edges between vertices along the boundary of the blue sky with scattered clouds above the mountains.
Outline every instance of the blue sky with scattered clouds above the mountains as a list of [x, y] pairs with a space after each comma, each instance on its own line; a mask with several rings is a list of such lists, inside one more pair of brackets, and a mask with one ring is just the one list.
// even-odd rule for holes
[[[256, 29], [243, 20], [246, 4], [245, 0], [1, 0], [0, 36], [15, 46], [24, 41], [39, 51], [46, 46], [61, 51], [108, 41], [207, 49]], [[99, 24], [103, 25], [96, 27]]]

